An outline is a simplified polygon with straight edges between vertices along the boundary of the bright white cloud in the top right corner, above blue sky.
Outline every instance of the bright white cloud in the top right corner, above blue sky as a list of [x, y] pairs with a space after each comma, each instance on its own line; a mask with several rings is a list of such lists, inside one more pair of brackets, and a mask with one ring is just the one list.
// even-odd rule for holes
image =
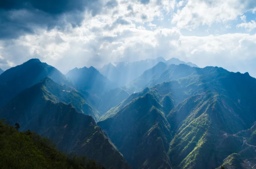
[[187, 0], [186, 5], [174, 14], [172, 22], [178, 28], [194, 29], [237, 19], [255, 7], [255, 0]]

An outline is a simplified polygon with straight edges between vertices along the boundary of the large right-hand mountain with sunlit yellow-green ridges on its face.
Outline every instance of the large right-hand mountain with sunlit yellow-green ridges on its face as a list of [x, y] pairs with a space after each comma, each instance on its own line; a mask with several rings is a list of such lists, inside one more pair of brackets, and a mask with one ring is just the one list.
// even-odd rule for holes
[[177, 168], [216, 168], [228, 155], [253, 148], [237, 133], [256, 120], [252, 97], [256, 80], [248, 74], [220, 71], [199, 83], [201, 94], [189, 97], [167, 116], [175, 133], [168, 154]]

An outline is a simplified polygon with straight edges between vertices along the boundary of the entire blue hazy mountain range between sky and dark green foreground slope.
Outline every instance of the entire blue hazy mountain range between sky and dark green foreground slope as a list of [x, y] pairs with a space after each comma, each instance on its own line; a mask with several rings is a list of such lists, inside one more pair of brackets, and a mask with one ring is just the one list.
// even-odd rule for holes
[[160, 60], [116, 83], [93, 67], [63, 75], [32, 59], [0, 75], [0, 118], [107, 169], [256, 165], [256, 79]]

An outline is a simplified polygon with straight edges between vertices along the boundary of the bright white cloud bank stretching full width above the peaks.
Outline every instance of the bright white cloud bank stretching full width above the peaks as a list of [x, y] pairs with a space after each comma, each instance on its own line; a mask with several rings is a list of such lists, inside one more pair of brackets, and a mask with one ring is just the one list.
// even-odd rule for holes
[[[39, 58], [66, 73], [74, 67], [101, 67], [114, 61], [162, 56], [192, 61], [202, 67], [223, 66], [232, 71], [256, 72], [255, 66], [250, 66], [256, 60], [256, 35], [188, 36], [181, 30], [226, 22], [241, 15], [245, 20], [244, 12], [252, 12], [246, 5], [248, 1], [241, 4], [241, 0], [187, 0], [183, 3], [151, 0], [145, 5], [136, 0], [118, 0], [95, 17], [86, 14], [81, 27], [70, 26], [64, 31], [38, 29], [33, 35], [0, 41], [0, 67], [6, 69], [30, 58]], [[180, 9], [173, 16], [177, 7]], [[143, 19], [142, 15], [147, 17]], [[170, 16], [177, 25], [172, 27], [165, 21], [161, 24], [161, 19]], [[246, 22], [242, 24], [244, 26], [237, 27], [252, 29], [252, 26], [245, 26]], [[225, 28], [231, 29], [231, 26], [226, 24]], [[246, 63], [249, 65], [244, 66]]]

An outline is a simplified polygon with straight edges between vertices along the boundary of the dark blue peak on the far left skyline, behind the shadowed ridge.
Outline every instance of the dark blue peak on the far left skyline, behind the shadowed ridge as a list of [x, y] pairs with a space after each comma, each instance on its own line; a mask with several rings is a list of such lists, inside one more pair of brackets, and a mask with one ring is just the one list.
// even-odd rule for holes
[[72, 86], [72, 82], [67, 80], [58, 69], [42, 63], [39, 59], [31, 59], [0, 75], [0, 107], [8, 103], [20, 91], [33, 86], [45, 77], [52, 78], [60, 85]]

